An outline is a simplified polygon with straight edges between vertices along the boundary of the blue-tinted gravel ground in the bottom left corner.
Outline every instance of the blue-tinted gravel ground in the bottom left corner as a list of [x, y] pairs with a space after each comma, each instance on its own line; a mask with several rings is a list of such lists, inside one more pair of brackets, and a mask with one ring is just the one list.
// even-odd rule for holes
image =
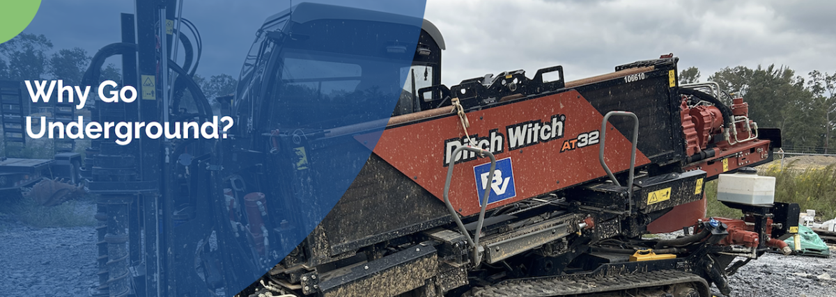
[[96, 278], [94, 227], [0, 227], [0, 295], [88, 296]]

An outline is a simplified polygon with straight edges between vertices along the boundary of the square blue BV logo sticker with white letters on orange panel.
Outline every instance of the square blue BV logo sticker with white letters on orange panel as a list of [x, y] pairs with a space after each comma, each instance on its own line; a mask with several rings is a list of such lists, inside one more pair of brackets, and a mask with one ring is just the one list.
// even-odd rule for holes
[[487, 204], [517, 197], [517, 189], [514, 187], [514, 171], [511, 165], [511, 157], [497, 160], [497, 168], [493, 170], [493, 179], [487, 180], [490, 170], [490, 163], [473, 167], [473, 174], [476, 177], [476, 197], [479, 201], [479, 206], [482, 206], [483, 195], [487, 187], [491, 187]]

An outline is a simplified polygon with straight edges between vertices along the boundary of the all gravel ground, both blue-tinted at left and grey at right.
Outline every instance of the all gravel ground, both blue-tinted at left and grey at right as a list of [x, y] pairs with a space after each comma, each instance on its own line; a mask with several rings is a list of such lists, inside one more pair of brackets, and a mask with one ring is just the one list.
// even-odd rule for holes
[[[97, 282], [93, 227], [0, 223], [0, 296], [89, 296]], [[836, 258], [766, 254], [729, 282], [735, 297], [836, 297]]]

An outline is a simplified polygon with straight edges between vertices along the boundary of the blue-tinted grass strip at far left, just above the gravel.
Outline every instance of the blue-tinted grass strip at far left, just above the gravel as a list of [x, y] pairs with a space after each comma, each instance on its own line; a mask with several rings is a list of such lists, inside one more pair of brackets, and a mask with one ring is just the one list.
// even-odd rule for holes
[[[73, 200], [54, 207], [36, 204], [32, 199], [7, 201], [0, 207], [0, 220], [19, 220], [36, 228], [92, 226], [95, 206], [88, 200]], [[0, 225], [0, 230], [6, 227]]]

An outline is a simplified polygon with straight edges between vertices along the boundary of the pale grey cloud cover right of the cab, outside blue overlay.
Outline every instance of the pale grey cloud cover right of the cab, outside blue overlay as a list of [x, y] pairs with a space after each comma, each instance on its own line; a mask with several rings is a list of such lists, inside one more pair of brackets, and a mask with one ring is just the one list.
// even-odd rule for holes
[[444, 34], [443, 81], [563, 65], [567, 79], [675, 53], [680, 67], [775, 63], [836, 71], [836, 3], [825, 1], [429, 0]]

